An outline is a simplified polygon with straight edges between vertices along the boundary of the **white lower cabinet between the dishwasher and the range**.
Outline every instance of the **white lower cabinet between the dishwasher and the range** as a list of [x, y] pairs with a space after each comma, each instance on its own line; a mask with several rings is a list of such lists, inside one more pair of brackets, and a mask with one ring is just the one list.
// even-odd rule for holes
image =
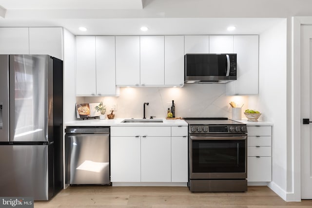
[[186, 183], [187, 142], [187, 126], [111, 127], [111, 182]]

